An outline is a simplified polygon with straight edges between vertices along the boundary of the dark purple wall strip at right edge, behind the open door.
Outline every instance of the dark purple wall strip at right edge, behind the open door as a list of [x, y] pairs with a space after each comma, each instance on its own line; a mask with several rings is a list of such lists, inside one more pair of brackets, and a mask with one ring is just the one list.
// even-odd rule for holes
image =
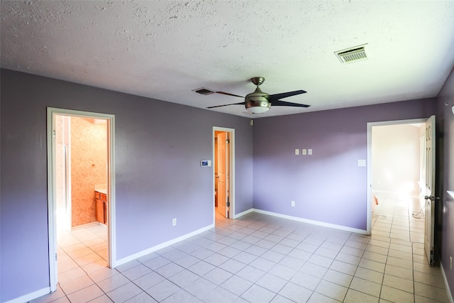
[[[446, 106], [445, 104], [448, 104]], [[454, 272], [449, 270], [449, 257], [454, 258], [454, 198], [446, 191], [454, 191], [454, 114], [451, 106], [454, 105], [454, 70], [446, 80], [440, 94], [438, 94], [438, 133], [443, 139], [443, 155], [437, 170], [442, 172], [438, 178], [441, 190], [437, 193], [443, 197], [441, 207], [439, 207], [438, 222], [441, 225], [438, 238], [438, 248], [441, 249], [441, 263], [446, 275], [446, 280], [450, 287], [451, 295], [454, 297]], [[440, 247], [441, 246], [441, 247]]]

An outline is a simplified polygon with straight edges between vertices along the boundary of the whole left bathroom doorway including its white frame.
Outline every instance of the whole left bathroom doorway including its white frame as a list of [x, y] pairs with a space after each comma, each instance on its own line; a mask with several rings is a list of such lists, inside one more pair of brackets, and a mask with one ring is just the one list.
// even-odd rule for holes
[[59, 274], [113, 266], [113, 130], [111, 115], [48, 109], [51, 291]]

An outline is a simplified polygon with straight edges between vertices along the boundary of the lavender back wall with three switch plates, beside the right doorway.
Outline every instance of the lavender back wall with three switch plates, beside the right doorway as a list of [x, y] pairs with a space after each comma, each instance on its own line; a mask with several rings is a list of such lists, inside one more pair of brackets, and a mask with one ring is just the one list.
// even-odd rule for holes
[[[367, 122], [427, 118], [436, 99], [257, 119], [255, 209], [367, 229]], [[311, 148], [313, 155], [295, 155]], [[291, 206], [291, 201], [295, 206]]]

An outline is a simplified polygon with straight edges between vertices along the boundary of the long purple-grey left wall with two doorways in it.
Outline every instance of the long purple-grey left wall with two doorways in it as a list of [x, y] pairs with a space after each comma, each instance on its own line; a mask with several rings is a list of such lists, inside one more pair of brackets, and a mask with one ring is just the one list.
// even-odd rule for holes
[[213, 126], [236, 129], [236, 212], [252, 207], [249, 119], [1, 70], [1, 302], [50, 283], [47, 106], [115, 115], [117, 259], [213, 223]]

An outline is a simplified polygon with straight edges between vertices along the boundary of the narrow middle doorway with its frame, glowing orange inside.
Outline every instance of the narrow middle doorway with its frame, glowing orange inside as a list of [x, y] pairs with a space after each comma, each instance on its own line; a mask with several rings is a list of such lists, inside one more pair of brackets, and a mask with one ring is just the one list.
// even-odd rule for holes
[[234, 130], [214, 128], [214, 217], [233, 219]]

